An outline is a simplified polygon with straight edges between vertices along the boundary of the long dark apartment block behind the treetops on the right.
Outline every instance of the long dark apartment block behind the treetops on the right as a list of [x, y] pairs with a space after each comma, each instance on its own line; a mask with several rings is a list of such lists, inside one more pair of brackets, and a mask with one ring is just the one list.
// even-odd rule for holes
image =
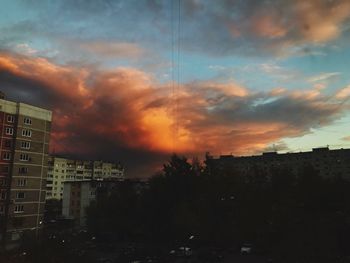
[[328, 147], [314, 148], [309, 152], [266, 152], [255, 156], [221, 155], [210, 157], [212, 169], [232, 169], [247, 174], [256, 167], [267, 174], [278, 167], [288, 167], [297, 173], [305, 165], [311, 165], [322, 177], [341, 176], [350, 180], [350, 149], [330, 150]]

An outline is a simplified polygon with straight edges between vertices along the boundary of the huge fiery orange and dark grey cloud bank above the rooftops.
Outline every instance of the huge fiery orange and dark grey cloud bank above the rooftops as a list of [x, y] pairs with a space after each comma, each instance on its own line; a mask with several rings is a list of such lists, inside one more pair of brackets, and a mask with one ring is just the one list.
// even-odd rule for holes
[[197, 81], [173, 92], [171, 83], [134, 68], [58, 65], [10, 53], [0, 53], [0, 83], [9, 98], [53, 110], [51, 151], [118, 159], [132, 175], [160, 166], [173, 151], [256, 153], [329, 125], [346, 110], [342, 96], [331, 100], [314, 89], [254, 92]]

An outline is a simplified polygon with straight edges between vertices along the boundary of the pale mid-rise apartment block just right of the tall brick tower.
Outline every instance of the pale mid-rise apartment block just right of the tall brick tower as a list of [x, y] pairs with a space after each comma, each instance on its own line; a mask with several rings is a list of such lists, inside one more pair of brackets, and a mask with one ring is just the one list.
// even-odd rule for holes
[[46, 199], [62, 199], [63, 184], [66, 181], [109, 178], [124, 178], [124, 168], [120, 163], [72, 160], [51, 156], [47, 174]]

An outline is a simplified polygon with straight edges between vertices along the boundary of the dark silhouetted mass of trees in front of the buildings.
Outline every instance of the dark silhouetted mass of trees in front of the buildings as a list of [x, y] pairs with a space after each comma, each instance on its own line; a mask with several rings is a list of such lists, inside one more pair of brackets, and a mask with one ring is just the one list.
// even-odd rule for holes
[[[297, 173], [251, 167], [242, 174], [173, 155], [142, 191], [126, 184], [87, 209], [94, 233], [120, 241], [244, 242], [287, 258], [345, 256], [350, 251], [350, 182], [323, 178], [307, 164]], [[189, 237], [191, 237], [189, 240]]]

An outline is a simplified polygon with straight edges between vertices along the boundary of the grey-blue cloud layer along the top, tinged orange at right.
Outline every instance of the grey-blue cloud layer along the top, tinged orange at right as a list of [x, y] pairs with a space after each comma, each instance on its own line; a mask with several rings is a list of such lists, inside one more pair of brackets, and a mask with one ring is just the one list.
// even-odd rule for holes
[[[40, 37], [54, 45], [62, 38], [81, 36], [92, 41], [85, 49], [102, 55], [124, 53], [123, 43], [128, 43], [126, 54], [131, 56], [138, 56], [139, 50], [130, 43], [168, 50], [172, 36], [183, 51], [215, 56], [324, 55], [323, 44], [348, 37], [350, 19], [348, 0], [187, 0], [180, 2], [180, 12], [176, 3], [166, 0], [22, 1], [22, 5], [38, 13], [38, 19], [19, 22], [14, 30], [0, 28], [7, 46], [13, 43], [11, 37], [21, 42]], [[106, 38], [116, 44], [98, 43]]]

